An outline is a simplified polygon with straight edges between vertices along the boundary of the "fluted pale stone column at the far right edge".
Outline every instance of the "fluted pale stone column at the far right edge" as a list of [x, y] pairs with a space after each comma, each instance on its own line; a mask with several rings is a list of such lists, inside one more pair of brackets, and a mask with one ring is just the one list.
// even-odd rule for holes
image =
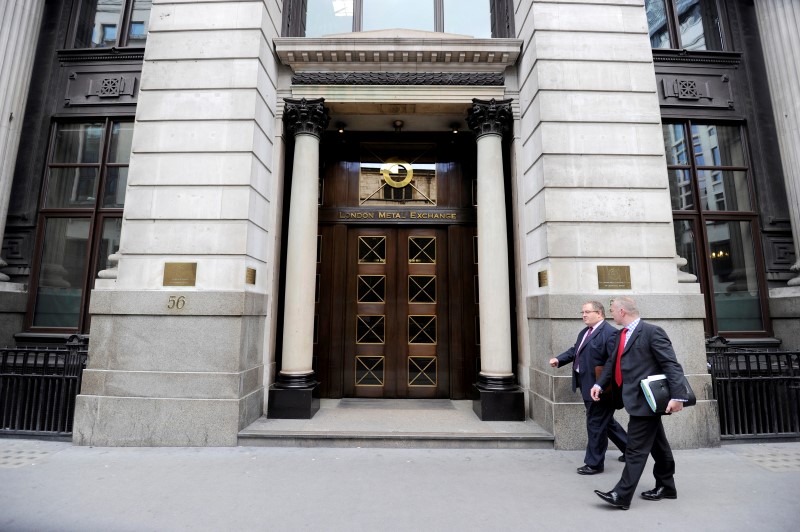
[[[791, 270], [800, 273], [800, 3], [756, 0], [755, 7], [797, 258]], [[789, 285], [800, 286], [800, 275]]]

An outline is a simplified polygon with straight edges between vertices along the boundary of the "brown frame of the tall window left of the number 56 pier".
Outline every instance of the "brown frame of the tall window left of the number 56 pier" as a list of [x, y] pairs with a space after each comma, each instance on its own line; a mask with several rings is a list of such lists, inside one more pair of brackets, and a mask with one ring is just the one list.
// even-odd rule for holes
[[[92, 122], [102, 122], [103, 129], [100, 139], [100, 157], [97, 163], [54, 163], [52, 162], [56, 143], [56, 132], [58, 128], [68, 124], [85, 124]], [[24, 330], [26, 332], [41, 333], [80, 333], [89, 332], [91, 317], [89, 315], [90, 292], [94, 288], [94, 281], [97, 278], [98, 254], [103, 238], [103, 226], [106, 220], [123, 217], [123, 207], [104, 207], [105, 190], [107, 186], [108, 168], [130, 167], [130, 160], [127, 163], [110, 163], [108, 161], [109, 150], [111, 147], [111, 131], [116, 123], [134, 124], [132, 116], [87, 116], [64, 119], [54, 119], [50, 124], [50, 140], [48, 141], [46, 162], [44, 165], [44, 178], [39, 197], [39, 211], [37, 213], [36, 237], [34, 242], [33, 264], [31, 268], [30, 287], [28, 290], [28, 305], [25, 313]], [[94, 204], [92, 206], [79, 207], [48, 207], [47, 193], [50, 187], [50, 170], [53, 168], [64, 167], [96, 167], [98, 168], [97, 190]], [[127, 181], [126, 181], [127, 185]], [[81, 302], [76, 327], [54, 327], [34, 325], [36, 317], [37, 296], [39, 294], [40, 276], [44, 260], [44, 245], [46, 227], [48, 220], [57, 218], [81, 218], [89, 220], [89, 232], [85, 251], [85, 271], [82, 276], [83, 286], [81, 292]], [[116, 250], [115, 250], [116, 251]]]

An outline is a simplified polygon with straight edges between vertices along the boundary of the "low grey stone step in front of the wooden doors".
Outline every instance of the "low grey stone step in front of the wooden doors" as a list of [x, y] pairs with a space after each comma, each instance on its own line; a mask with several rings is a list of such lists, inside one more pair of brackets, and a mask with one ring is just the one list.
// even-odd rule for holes
[[239, 433], [240, 446], [552, 449], [534, 421], [481, 421], [472, 401], [322, 399], [311, 419], [261, 417]]

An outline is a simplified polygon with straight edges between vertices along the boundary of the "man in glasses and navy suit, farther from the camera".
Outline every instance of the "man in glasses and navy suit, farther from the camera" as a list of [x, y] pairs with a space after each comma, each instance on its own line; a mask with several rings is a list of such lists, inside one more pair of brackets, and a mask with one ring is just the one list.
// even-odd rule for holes
[[628, 436], [625, 430], [614, 421], [614, 407], [611, 401], [592, 401], [591, 390], [595, 383], [595, 368], [603, 366], [608, 360], [610, 344], [617, 330], [606, 323], [606, 311], [597, 301], [587, 301], [581, 310], [586, 327], [578, 333], [575, 345], [555, 358], [550, 365], [560, 368], [572, 362], [572, 391], [580, 388], [586, 407], [586, 432], [589, 441], [586, 445], [584, 465], [578, 468], [581, 475], [602, 473], [608, 440], [614, 442], [622, 451], [621, 461], [625, 459]]

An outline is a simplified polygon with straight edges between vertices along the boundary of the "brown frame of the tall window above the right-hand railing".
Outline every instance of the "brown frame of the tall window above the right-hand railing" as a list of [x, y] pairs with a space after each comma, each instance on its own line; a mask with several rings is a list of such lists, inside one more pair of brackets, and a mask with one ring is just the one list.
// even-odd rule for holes
[[[673, 222], [688, 221], [694, 232], [695, 254], [698, 263], [698, 283], [706, 304], [705, 330], [707, 336], [724, 335], [726, 338], [750, 338], [754, 336], [767, 337], [772, 335], [772, 323], [769, 316], [768, 286], [766, 269], [764, 266], [764, 253], [761, 247], [761, 229], [759, 214], [756, 211], [755, 179], [753, 176], [754, 165], [750, 155], [750, 143], [747, 135], [746, 124], [741, 120], [722, 119], [691, 119], [691, 118], [662, 118], [662, 123], [667, 126], [680, 124], [683, 127], [685, 142], [687, 144], [687, 164], [675, 164], [667, 161], [669, 179], [673, 179], [673, 170], [688, 170], [690, 173], [690, 186], [694, 195], [694, 207], [685, 210], [673, 210]], [[729, 126], [736, 127], [742, 144], [743, 166], [727, 165], [698, 165], [695, 160], [694, 142], [692, 137], [693, 125]], [[750, 197], [749, 210], [711, 210], [704, 209], [700, 203], [700, 187], [698, 175], [700, 171], [745, 171], [747, 176], [747, 192]], [[670, 194], [671, 196], [671, 194]], [[672, 198], [670, 197], [670, 200]], [[755, 261], [756, 283], [758, 287], [758, 303], [761, 312], [762, 329], [759, 330], [726, 330], [720, 329], [717, 323], [717, 307], [713, 286], [713, 266], [710, 260], [710, 238], [707, 232], [707, 222], [747, 222], [753, 242], [753, 260]], [[680, 251], [680, 250], [678, 250]], [[686, 257], [684, 257], [686, 258]]]

